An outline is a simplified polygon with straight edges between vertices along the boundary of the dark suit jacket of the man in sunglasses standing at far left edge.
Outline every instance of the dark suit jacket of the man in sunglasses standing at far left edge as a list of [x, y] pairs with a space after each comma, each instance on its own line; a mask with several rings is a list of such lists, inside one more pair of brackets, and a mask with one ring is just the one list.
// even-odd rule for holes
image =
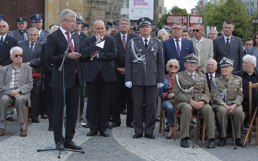
[[10, 59], [10, 50], [14, 46], [17, 46], [17, 39], [15, 39], [7, 34], [5, 36], [5, 41], [2, 44], [2, 48], [0, 51], [0, 65], [6, 66], [6, 65], [9, 65], [12, 63], [12, 61]]

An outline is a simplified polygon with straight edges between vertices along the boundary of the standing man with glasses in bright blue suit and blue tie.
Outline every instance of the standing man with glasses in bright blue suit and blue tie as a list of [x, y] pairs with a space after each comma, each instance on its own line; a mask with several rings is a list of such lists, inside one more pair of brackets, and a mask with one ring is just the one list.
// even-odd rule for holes
[[[177, 59], [180, 66], [178, 72], [181, 72], [185, 70], [183, 57], [190, 53], [195, 54], [193, 41], [182, 38], [183, 25], [181, 23], [173, 23], [171, 33], [172, 38], [162, 42], [164, 64], [166, 65], [170, 59]], [[165, 74], [167, 74], [167, 71], [165, 71]]]

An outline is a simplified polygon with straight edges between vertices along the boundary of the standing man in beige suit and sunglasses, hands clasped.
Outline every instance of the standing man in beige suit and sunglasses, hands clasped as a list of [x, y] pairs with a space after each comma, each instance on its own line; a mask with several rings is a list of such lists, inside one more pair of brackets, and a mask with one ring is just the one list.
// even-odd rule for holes
[[194, 37], [190, 40], [193, 41], [194, 51], [198, 58], [198, 71], [207, 73], [206, 64], [208, 60], [213, 58], [213, 42], [212, 40], [203, 37], [203, 24], [195, 23], [193, 32]]

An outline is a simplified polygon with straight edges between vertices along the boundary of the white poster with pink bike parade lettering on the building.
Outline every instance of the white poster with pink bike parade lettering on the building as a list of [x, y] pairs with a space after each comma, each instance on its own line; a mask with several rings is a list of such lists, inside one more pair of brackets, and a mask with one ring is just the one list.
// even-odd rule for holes
[[154, 0], [128, 0], [129, 20], [148, 17], [154, 20]]

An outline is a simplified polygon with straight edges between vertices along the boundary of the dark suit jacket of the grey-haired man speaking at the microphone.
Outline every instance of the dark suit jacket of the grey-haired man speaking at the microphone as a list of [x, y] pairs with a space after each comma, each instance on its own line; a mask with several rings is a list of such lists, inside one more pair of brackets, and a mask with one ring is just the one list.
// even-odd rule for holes
[[[75, 34], [74, 37], [74, 52], [81, 51], [81, 41], [78, 34]], [[60, 67], [64, 52], [66, 51], [68, 46], [68, 41], [65, 38], [62, 31], [58, 28], [58, 30], [48, 35], [48, 41], [46, 42], [46, 61], [50, 64], [53, 64], [53, 72], [52, 72], [52, 83], [50, 83], [50, 87], [62, 88], [63, 87], [63, 69], [62, 71], [58, 71]], [[71, 52], [69, 48], [68, 53]], [[82, 86], [82, 73], [81, 73], [81, 63], [80, 58], [76, 59], [67, 59], [67, 62], [64, 62], [65, 68], [65, 87], [71, 88], [75, 82], [75, 65], [78, 70], [78, 77], [80, 86]]]

